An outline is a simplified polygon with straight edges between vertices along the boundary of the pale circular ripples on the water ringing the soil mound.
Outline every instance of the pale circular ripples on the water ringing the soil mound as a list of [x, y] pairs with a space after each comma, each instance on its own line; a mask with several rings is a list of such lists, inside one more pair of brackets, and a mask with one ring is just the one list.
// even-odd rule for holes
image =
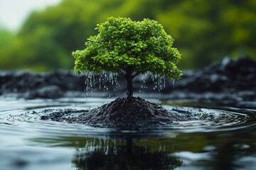
[[[109, 99], [107, 101], [110, 101]], [[91, 108], [97, 106], [96, 103], [100, 105], [100, 101], [93, 100], [86, 103], [78, 101], [75, 103], [75, 108], [79, 111], [81, 108]], [[104, 102], [104, 101], [103, 101]], [[21, 109], [22, 103], [26, 108]], [[53, 111], [57, 111], [58, 107], [63, 109], [70, 108], [70, 101], [65, 101], [62, 99], [61, 103], [59, 101], [44, 101], [44, 106], [47, 108], [52, 108]], [[242, 128], [255, 128], [256, 124], [256, 112], [253, 109], [234, 109], [225, 108], [225, 110], [220, 109], [209, 109], [209, 108], [193, 108], [193, 107], [174, 107], [174, 106], [164, 106], [171, 113], [176, 113], [177, 115], [192, 116], [193, 120], [189, 121], [178, 121], [171, 123], [163, 123], [162, 125], [155, 125], [150, 127], [139, 127], [139, 128], [102, 128], [102, 127], [92, 127], [89, 125], [82, 124], [70, 124], [65, 122], [55, 122], [50, 120], [40, 120], [36, 116], [36, 112], [41, 111], [42, 106], [41, 101], [20, 101], [18, 105], [14, 108], [5, 107], [0, 111], [0, 126], [1, 131], [5, 131], [3, 127], [16, 126], [17, 129], [23, 128], [25, 132], [33, 130], [34, 132], [43, 135], [58, 135], [58, 136], [73, 136], [73, 135], [170, 135], [173, 132], [220, 132], [220, 131], [233, 131], [240, 130]], [[63, 107], [64, 106], [64, 107]], [[29, 108], [29, 109], [28, 109]], [[6, 130], [8, 132], [9, 130]]]

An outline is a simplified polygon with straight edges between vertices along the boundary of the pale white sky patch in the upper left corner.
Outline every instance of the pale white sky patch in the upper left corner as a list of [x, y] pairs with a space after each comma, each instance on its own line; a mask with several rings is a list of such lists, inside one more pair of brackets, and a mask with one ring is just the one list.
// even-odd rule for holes
[[35, 10], [58, 4], [61, 0], [0, 0], [0, 26], [18, 30], [26, 17]]

